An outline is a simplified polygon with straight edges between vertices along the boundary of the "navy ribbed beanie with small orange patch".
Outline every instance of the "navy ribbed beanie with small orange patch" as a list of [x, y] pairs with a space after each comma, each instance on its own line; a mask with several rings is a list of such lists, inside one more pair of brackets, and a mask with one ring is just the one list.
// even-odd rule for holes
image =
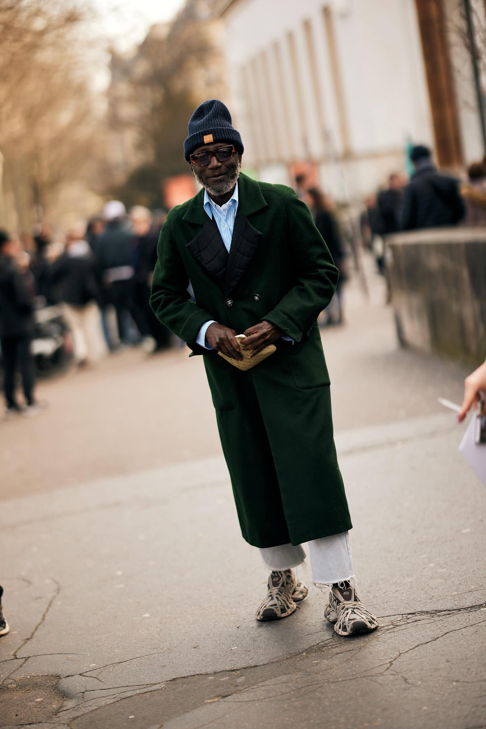
[[196, 147], [214, 141], [230, 141], [236, 151], [243, 154], [243, 142], [231, 123], [230, 110], [217, 98], [203, 101], [189, 119], [187, 139], [184, 141], [185, 160], [189, 162], [189, 155]]

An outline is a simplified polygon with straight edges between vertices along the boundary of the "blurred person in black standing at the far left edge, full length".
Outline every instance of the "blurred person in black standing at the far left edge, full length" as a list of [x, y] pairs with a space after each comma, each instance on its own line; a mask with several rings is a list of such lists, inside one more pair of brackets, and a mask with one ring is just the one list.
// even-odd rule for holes
[[[31, 340], [34, 335], [34, 279], [22, 273], [16, 257], [20, 242], [0, 230], [0, 346], [4, 365], [4, 394], [7, 416], [15, 413], [34, 414], [39, 410], [34, 400], [34, 360]], [[15, 375], [22, 375], [26, 408], [15, 398]]]

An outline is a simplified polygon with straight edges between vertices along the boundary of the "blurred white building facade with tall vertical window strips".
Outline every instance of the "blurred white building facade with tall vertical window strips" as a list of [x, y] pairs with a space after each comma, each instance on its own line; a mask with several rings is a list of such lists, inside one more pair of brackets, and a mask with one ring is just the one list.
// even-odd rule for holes
[[[313, 184], [348, 202], [403, 170], [410, 142], [434, 147], [439, 122], [417, 1], [227, 2], [220, 17], [228, 101], [246, 167], [284, 184], [307, 171]], [[461, 72], [471, 75], [468, 69], [466, 59]], [[460, 162], [482, 157], [474, 109], [456, 115], [467, 139]]]

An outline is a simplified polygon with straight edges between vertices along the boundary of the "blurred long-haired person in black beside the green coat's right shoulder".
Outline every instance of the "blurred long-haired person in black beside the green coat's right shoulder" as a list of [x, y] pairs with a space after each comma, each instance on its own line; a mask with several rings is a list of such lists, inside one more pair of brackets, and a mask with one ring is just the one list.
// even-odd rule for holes
[[[324, 238], [324, 242], [332, 255], [334, 265], [340, 272], [337, 281], [336, 291], [329, 305], [326, 306], [326, 324], [342, 324], [342, 284], [345, 281], [345, 251], [342, 245], [340, 227], [334, 215], [332, 202], [326, 198], [324, 192], [318, 187], [310, 187], [307, 190], [310, 211], [313, 214], [315, 227]], [[337, 316], [334, 318], [333, 311], [337, 309]]]

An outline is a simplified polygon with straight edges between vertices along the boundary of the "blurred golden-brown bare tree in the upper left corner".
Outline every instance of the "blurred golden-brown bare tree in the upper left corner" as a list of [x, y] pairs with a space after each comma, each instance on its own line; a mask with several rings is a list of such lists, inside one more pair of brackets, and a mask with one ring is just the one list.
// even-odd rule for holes
[[82, 174], [97, 117], [79, 0], [0, 0], [0, 151], [4, 225], [28, 230]]

